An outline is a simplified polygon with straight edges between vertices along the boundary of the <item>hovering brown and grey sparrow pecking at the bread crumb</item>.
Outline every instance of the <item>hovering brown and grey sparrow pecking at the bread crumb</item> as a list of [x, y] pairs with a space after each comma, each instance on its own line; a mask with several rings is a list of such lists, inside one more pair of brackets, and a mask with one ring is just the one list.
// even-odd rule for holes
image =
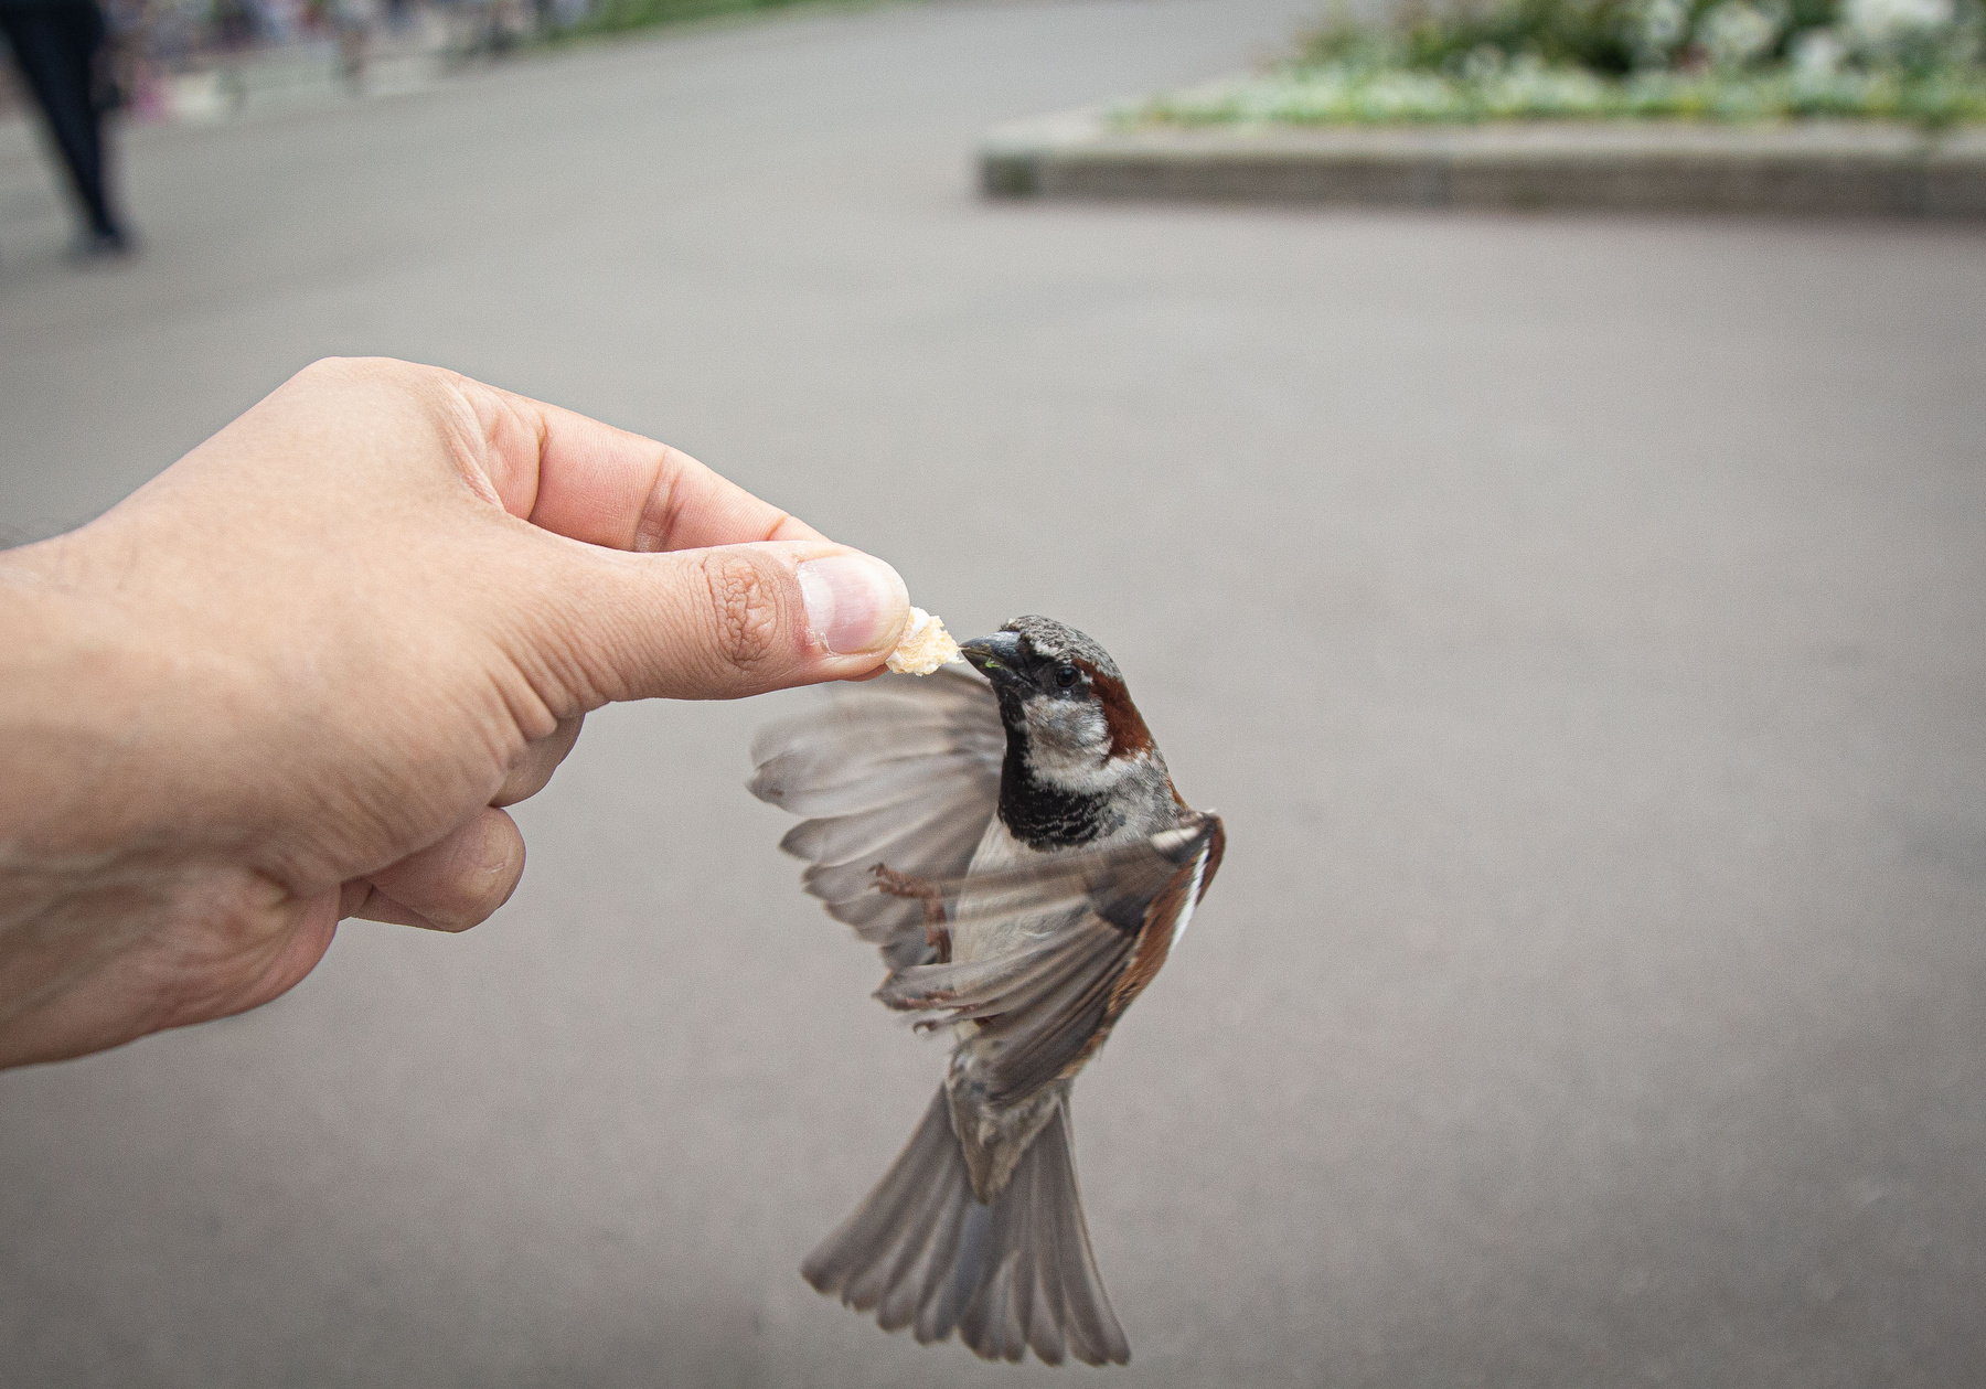
[[836, 686], [753, 743], [780, 849], [882, 950], [876, 998], [953, 1035], [902, 1155], [800, 1266], [922, 1343], [1126, 1363], [1076, 1190], [1068, 1095], [1219, 868], [1102, 646], [1025, 616], [965, 666]]

